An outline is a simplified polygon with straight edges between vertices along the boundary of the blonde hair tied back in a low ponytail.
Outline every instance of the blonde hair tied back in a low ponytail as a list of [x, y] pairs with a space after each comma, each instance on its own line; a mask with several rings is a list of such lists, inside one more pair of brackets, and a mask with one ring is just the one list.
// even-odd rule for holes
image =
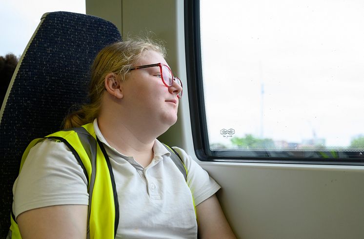
[[147, 51], [156, 51], [163, 57], [166, 55], [163, 44], [150, 39], [118, 41], [104, 47], [91, 66], [88, 94], [90, 102], [82, 105], [78, 111], [68, 114], [63, 120], [63, 128], [79, 127], [96, 119], [105, 92], [104, 79], [106, 75], [114, 73], [124, 81], [133, 64]]

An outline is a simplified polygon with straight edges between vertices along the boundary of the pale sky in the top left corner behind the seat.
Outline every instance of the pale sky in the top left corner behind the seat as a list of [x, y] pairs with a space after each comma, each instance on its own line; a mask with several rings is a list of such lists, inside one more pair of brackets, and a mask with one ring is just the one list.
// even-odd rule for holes
[[85, 9], [85, 0], [0, 0], [0, 56], [21, 56], [44, 13]]

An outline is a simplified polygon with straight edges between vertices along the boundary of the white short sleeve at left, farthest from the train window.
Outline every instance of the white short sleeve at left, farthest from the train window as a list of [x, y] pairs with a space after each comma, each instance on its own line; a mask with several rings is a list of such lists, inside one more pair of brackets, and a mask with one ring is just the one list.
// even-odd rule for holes
[[87, 179], [62, 142], [45, 139], [30, 149], [13, 186], [13, 212], [63, 204], [88, 205]]

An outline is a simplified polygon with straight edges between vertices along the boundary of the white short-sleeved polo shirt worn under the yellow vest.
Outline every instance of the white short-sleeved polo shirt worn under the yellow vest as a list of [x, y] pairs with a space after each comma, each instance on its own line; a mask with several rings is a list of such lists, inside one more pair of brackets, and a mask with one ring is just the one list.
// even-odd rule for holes
[[[197, 238], [193, 199], [198, 205], [215, 194], [220, 189], [215, 180], [182, 149], [174, 147], [187, 168], [186, 182], [157, 139], [154, 158], [144, 168], [107, 143], [97, 120], [94, 129], [115, 177], [120, 207], [117, 238]], [[87, 179], [81, 166], [64, 143], [54, 140], [44, 140], [30, 150], [13, 193], [15, 217], [45, 206], [88, 205]]]

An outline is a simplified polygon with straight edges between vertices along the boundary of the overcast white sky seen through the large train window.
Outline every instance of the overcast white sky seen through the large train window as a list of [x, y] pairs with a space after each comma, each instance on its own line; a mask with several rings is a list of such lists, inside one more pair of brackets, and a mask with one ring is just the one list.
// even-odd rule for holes
[[364, 136], [364, 1], [201, 2], [210, 143]]

